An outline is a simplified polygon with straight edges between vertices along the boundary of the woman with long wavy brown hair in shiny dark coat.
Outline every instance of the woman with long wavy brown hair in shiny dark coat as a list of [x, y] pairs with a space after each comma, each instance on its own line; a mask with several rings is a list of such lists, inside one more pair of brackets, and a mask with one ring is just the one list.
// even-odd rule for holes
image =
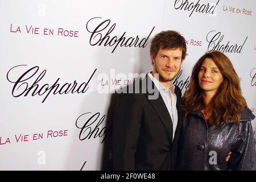
[[[203, 55], [195, 64], [183, 96], [178, 170], [255, 170], [251, 120], [239, 78], [221, 52]], [[232, 152], [229, 162], [225, 158]]]

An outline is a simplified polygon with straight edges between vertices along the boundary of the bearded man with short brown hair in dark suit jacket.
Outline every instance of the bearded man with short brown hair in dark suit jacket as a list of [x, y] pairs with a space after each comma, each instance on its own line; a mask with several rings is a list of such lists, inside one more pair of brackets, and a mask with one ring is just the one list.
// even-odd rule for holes
[[[185, 38], [176, 31], [160, 32], [151, 40], [150, 56], [153, 71], [126, 88], [130, 92], [134, 91], [130, 87], [139, 85], [139, 93], [119, 94], [115, 105], [114, 170], [175, 167], [182, 122], [181, 90], [171, 81], [186, 57]], [[154, 92], [150, 92], [152, 88]], [[157, 92], [158, 97], [150, 97]]]

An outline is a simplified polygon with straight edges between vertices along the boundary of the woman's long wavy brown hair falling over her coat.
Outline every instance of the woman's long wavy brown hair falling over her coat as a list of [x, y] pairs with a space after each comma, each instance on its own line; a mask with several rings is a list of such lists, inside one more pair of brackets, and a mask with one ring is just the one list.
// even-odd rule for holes
[[[198, 84], [198, 73], [206, 58], [213, 59], [223, 76], [223, 83], [207, 107], [203, 101], [203, 90]], [[205, 109], [206, 113], [210, 114], [207, 120], [210, 126], [219, 126], [222, 121], [229, 125], [229, 120], [239, 125], [241, 112], [245, 107], [247, 104], [242, 96], [239, 78], [229, 58], [219, 51], [207, 52], [200, 57], [194, 65], [189, 86], [183, 96], [182, 109], [185, 112], [185, 118], [189, 113]]]

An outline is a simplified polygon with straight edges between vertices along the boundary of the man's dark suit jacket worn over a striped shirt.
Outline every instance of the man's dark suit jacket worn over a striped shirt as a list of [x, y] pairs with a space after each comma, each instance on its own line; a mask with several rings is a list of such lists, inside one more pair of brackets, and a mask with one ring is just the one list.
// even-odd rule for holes
[[[113, 120], [114, 170], [174, 170], [182, 123], [181, 90], [175, 86], [178, 124], [173, 140], [169, 111], [150, 77], [135, 81], [133, 88], [145, 79], [147, 84], [140, 87], [139, 93], [118, 94]], [[149, 85], [159, 94], [155, 100], [149, 99], [154, 94], [149, 92]]]

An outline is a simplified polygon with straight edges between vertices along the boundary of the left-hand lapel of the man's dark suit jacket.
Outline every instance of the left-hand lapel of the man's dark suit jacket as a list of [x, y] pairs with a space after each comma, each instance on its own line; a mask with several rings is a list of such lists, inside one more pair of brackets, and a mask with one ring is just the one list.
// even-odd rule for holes
[[[147, 88], [147, 93], [146, 93], [147, 100], [149, 100], [150, 104], [154, 107], [156, 113], [161, 119], [161, 122], [165, 126], [166, 133], [170, 139], [170, 143], [172, 143], [173, 142], [173, 122], [171, 121], [169, 111], [167, 110], [165, 102], [163, 101], [163, 98], [159, 93], [159, 90], [154, 85], [154, 82], [151, 80], [151, 78], [148, 75], [146, 75], [146, 79], [147, 79], [147, 86], [152, 85], [153, 88], [150, 88], [150, 90], [154, 90], [153, 93], [149, 93], [148, 92], [149, 88]], [[148, 84], [149, 82], [151, 83]], [[155, 94], [155, 92], [158, 92], [158, 97], [156, 99], [150, 99], [150, 96]]]

